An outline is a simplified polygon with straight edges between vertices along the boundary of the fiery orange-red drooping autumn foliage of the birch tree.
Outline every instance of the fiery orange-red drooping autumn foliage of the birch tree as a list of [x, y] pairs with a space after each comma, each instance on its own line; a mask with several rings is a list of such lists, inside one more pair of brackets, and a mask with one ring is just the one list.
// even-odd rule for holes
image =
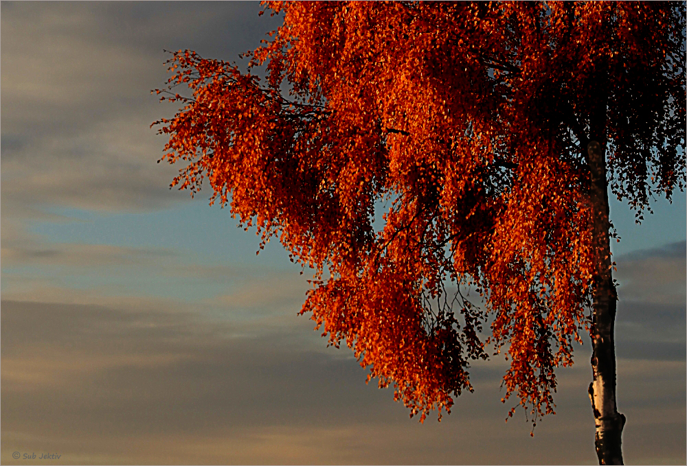
[[268, 6], [284, 23], [247, 71], [192, 51], [169, 60], [157, 93], [183, 108], [157, 123], [164, 159], [186, 165], [173, 184], [207, 178], [261, 247], [276, 236], [314, 268], [302, 312], [412, 415], [449, 410], [472, 390], [469, 362], [502, 350], [505, 398], [552, 412], [554, 369], [589, 329], [587, 142], [602, 141], [609, 187], [638, 213], [684, 187], [682, 13]]

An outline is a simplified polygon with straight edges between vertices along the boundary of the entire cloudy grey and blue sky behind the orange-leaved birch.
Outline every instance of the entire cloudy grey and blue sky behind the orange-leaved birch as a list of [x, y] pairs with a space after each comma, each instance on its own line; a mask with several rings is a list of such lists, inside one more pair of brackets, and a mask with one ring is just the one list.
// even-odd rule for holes
[[[164, 49], [237, 60], [280, 24], [258, 11], [0, 3], [0, 461], [595, 464], [588, 343], [534, 437], [522, 410], [504, 422], [499, 359], [420, 424], [297, 315], [308, 273], [279, 244], [256, 255], [209, 192], [169, 189]], [[684, 464], [685, 194], [652, 207], [637, 225], [611, 203], [624, 459]]]

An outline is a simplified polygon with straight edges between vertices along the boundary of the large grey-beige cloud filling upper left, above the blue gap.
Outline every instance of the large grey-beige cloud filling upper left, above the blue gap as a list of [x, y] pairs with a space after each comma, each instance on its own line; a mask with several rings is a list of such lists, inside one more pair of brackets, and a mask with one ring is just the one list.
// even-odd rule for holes
[[188, 199], [168, 191], [179, 167], [157, 165], [165, 141], [149, 128], [176, 110], [150, 95], [166, 80], [162, 49], [235, 58], [259, 45], [262, 33], [248, 31], [267, 32], [276, 19], [256, 28], [256, 4], [200, 3], [188, 21], [182, 7], [3, 5], [6, 213], [27, 217], [45, 205], [141, 212]]

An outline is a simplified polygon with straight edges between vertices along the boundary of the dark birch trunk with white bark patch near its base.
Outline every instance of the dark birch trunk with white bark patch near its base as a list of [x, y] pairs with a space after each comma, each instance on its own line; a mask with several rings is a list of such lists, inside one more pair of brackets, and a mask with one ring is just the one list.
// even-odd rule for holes
[[616, 320], [616, 287], [611, 269], [608, 187], [605, 150], [597, 141], [587, 144], [587, 164], [592, 174], [590, 197], [594, 221], [594, 314], [592, 321], [592, 374], [589, 399], [596, 421], [596, 454], [600, 465], [622, 465], [621, 436], [625, 417], [616, 407], [616, 349], [613, 327]]

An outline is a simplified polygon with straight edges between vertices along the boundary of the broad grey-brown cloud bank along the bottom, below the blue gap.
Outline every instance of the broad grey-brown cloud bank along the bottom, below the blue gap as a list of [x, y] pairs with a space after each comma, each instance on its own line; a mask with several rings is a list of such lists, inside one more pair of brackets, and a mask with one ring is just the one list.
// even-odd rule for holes
[[[476, 393], [442, 423], [420, 425], [391, 391], [363, 383], [363, 369], [341, 357], [348, 350], [324, 349], [301, 338], [304, 329], [190, 312], [1, 305], [3, 463], [15, 463], [13, 451], [56, 452], [72, 464], [594, 461], [583, 365], [561, 371], [559, 415], [530, 439], [519, 416], [504, 423], [499, 371], [475, 371]], [[620, 362], [619, 374], [628, 461], [657, 447], [684, 458], [684, 361]], [[638, 450], [640, 438], [654, 443]]]

